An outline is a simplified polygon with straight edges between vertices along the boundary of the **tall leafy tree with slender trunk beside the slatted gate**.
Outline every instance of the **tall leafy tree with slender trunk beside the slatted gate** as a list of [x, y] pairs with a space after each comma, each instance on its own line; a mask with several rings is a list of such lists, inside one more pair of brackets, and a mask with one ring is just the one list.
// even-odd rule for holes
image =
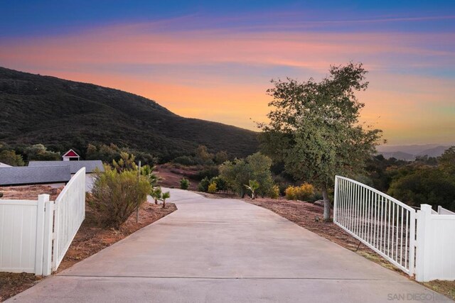
[[367, 71], [352, 62], [331, 67], [321, 82], [310, 78], [298, 82], [272, 80], [267, 93], [273, 97], [269, 123], [262, 129], [262, 150], [297, 180], [321, 189], [324, 219], [330, 219], [328, 188], [335, 175], [353, 175], [363, 170], [375, 152], [381, 131], [359, 122], [355, 92], [367, 89]]

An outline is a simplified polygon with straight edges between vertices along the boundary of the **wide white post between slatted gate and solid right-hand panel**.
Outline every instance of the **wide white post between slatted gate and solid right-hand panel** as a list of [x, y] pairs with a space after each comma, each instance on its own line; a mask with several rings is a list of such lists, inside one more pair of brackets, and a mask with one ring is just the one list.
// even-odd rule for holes
[[419, 282], [429, 281], [429, 262], [432, 256], [429, 255], [429, 242], [431, 240], [432, 206], [421, 204], [417, 211], [417, 251], [415, 262], [415, 280]]

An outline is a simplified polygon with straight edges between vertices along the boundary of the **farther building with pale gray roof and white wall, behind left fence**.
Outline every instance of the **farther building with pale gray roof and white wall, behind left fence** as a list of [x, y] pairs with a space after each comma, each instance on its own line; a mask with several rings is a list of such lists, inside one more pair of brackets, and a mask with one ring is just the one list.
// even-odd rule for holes
[[85, 190], [90, 192], [95, 181], [96, 172], [104, 172], [105, 167], [101, 160], [63, 160], [63, 161], [30, 161], [28, 167], [52, 167], [52, 166], [68, 166], [70, 174], [74, 175], [82, 167], [85, 167]]

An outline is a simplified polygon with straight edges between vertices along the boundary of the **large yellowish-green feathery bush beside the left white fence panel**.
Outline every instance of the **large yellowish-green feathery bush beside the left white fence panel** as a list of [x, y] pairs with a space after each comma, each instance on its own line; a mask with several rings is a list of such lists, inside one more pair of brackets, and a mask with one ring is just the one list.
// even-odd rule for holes
[[151, 192], [147, 177], [137, 180], [137, 171], [107, 169], [97, 176], [93, 184], [92, 197], [100, 211], [100, 221], [105, 226], [119, 229], [129, 216]]

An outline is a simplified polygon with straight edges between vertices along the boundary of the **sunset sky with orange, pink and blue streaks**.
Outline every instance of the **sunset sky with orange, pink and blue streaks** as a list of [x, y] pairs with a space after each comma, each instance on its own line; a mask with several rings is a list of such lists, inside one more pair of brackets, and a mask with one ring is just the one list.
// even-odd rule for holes
[[271, 79], [363, 62], [362, 122], [390, 145], [455, 143], [455, 1], [0, 0], [0, 16], [0, 66], [252, 130]]

